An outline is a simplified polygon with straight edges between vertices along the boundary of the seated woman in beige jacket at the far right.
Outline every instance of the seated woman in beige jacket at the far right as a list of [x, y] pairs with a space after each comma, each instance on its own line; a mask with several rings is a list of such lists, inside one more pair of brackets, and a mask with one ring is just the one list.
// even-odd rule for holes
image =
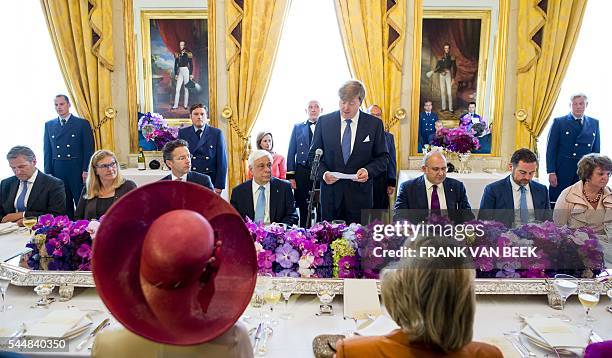
[[612, 160], [592, 153], [578, 162], [580, 181], [565, 188], [559, 195], [553, 220], [571, 228], [588, 226], [604, 234], [606, 224], [612, 224], [612, 191], [607, 186]]

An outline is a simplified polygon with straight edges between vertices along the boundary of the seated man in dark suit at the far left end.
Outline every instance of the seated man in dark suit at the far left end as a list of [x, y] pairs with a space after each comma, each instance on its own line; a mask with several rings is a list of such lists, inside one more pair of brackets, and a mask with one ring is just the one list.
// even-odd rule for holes
[[44, 214], [65, 215], [64, 183], [36, 168], [36, 156], [28, 147], [9, 150], [6, 159], [15, 176], [0, 182], [0, 218], [23, 226], [23, 218]]

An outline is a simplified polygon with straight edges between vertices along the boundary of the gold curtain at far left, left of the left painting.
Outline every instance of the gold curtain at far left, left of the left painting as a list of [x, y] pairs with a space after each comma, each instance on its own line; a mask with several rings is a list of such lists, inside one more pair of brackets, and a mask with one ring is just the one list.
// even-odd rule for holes
[[112, 2], [41, 0], [41, 5], [76, 111], [91, 124], [96, 148], [115, 150]]

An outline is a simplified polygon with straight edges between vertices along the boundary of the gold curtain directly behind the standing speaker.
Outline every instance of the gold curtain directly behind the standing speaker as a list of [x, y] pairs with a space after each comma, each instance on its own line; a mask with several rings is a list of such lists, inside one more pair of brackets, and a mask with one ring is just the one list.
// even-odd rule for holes
[[336, 0], [336, 15], [351, 74], [366, 87], [366, 107], [382, 109], [399, 157], [400, 125], [393, 114], [401, 97], [406, 2]]

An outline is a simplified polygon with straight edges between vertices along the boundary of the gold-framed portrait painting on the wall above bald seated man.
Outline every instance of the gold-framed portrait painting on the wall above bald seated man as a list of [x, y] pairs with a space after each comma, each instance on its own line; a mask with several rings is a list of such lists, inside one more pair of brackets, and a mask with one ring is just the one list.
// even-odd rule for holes
[[[476, 113], [487, 122], [490, 131], [483, 135], [481, 150], [476, 155], [498, 156], [503, 116], [503, 90], [508, 32], [508, 2], [500, 0], [497, 21], [492, 24], [493, 9], [425, 8], [415, 12], [415, 43], [413, 47], [413, 86], [410, 154], [420, 153], [419, 114], [426, 99], [433, 100], [433, 112], [438, 113], [445, 127], [457, 127], [459, 118], [467, 113], [467, 104], [476, 103]], [[492, 33], [493, 32], [493, 33]], [[493, 35], [493, 36], [492, 36]], [[450, 58], [455, 64], [452, 88], [446, 110], [442, 111], [442, 96], [446, 94], [438, 70], [444, 45], [450, 44]], [[459, 49], [458, 45], [466, 48]], [[490, 61], [493, 56], [493, 61]], [[459, 65], [457, 66], [457, 63]], [[450, 71], [448, 71], [450, 73]], [[450, 101], [454, 101], [450, 111]]]

